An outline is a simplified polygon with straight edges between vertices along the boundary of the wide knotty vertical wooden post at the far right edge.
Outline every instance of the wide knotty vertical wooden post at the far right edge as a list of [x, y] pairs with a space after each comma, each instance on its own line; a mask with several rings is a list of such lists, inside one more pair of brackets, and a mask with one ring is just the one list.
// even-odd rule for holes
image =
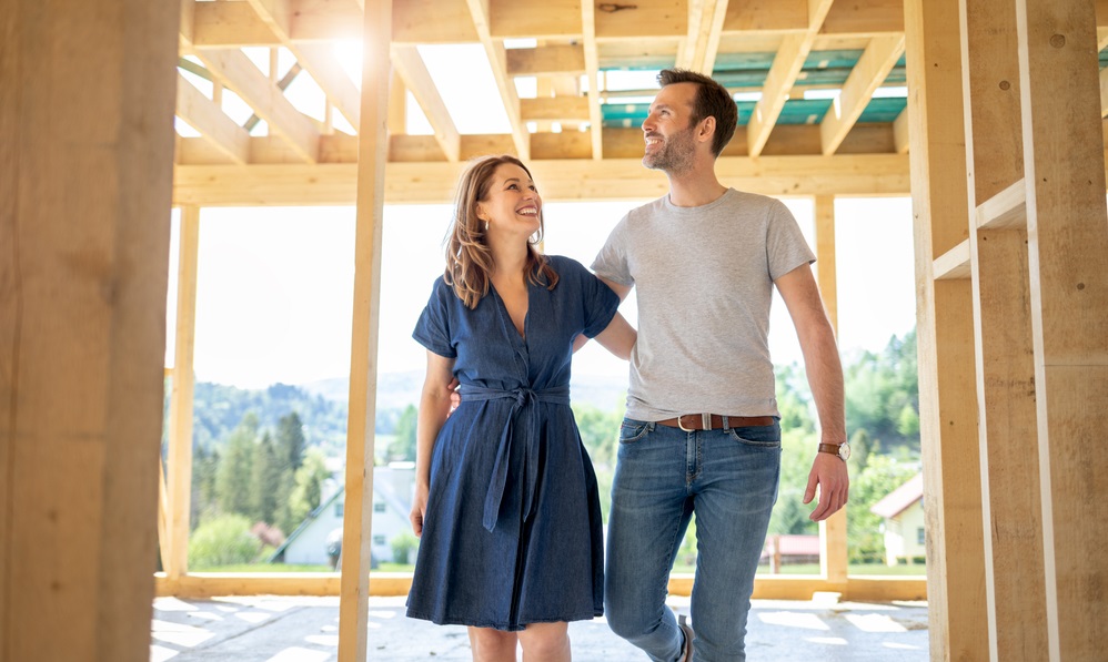
[[1051, 661], [1102, 659], [1108, 640], [1108, 213], [1095, 4], [1016, 0]]

